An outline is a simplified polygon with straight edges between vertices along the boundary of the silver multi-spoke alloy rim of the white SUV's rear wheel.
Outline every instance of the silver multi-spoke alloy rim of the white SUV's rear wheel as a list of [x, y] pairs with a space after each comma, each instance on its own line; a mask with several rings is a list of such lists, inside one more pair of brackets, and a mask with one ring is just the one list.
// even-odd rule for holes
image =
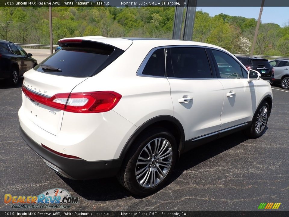
[[135, 167], [138, 184], [151, 188], [159, 184], [172, 165], [172, 146], [165, 138], [151, 140], [142, 149]]

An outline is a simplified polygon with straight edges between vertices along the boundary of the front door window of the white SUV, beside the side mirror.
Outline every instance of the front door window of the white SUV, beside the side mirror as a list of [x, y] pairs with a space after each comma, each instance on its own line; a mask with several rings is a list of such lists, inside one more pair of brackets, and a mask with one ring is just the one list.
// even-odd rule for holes
[[216, 59], [221, 78], [242, 78], [241, 65], [230, 55], [213, 50], [213, 55]]

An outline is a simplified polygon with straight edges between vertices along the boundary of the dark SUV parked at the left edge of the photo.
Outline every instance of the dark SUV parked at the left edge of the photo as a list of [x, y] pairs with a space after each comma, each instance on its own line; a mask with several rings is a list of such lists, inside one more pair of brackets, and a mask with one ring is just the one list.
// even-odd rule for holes
[[32, 54], [27, 54], [16, 44], [0, 40], [0, 78], [17, 85], [19, 77], [37, 65], [36, 59], [31, 57]]

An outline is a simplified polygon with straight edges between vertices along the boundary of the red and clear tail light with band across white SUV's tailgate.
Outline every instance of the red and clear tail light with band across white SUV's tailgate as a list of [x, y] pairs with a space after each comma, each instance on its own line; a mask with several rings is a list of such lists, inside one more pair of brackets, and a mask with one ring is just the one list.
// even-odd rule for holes
[[119, 93], [113, 91], [99, 91], [87, 93], [59, 93], [47, 98], [31, 92], [24, 86], [22, 90], [30, 99], [43, 105], [76, 113], [99, 113], [110, 111], [117, 105], [122, 97]]

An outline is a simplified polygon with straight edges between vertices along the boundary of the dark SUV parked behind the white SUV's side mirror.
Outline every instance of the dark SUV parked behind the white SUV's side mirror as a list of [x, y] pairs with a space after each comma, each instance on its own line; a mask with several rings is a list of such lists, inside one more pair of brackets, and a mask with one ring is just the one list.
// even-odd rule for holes
[[237, 55], [236, 57], [243, 63], [247, 70], [256, 70], [261, 74], [263, 80], [268, 80], [271, 84], [274, 82], [274, 68], [267, 59]]

